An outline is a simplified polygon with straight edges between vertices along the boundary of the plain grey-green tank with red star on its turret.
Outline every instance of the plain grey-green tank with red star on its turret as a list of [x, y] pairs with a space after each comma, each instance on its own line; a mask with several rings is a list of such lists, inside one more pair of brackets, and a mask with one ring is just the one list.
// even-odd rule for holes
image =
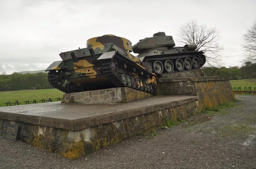
[[199, 69], [204, 65], [204, 52], [198, 51], [196, 45], [174, 46], [172, 36], [158, 32], [151, 38], [140, 40], [132, 49], [134, 53], [139, 53], [140, 60], [147, 62], [156, 74]]

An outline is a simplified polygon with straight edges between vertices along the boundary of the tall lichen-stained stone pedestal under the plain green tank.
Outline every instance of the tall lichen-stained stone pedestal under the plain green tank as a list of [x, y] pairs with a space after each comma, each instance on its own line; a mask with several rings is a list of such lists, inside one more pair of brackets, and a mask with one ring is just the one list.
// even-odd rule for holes
[[[190, 77], [185, 77], [186, 75]], [[199, 96], [199, 109], [218, 106], [235, 99], [227, 77], [205, 76], [201, 69], [162, 75], [158, 79], [155, 95]]]

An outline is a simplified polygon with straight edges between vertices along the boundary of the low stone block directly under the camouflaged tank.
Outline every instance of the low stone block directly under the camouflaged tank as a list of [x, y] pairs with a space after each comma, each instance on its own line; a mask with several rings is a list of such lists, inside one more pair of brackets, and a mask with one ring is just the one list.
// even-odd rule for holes
[[126, 103], [152, 97], [150, 93], [132, 88], [109, 88], [86, 92], [66, 93], [62, 103]]

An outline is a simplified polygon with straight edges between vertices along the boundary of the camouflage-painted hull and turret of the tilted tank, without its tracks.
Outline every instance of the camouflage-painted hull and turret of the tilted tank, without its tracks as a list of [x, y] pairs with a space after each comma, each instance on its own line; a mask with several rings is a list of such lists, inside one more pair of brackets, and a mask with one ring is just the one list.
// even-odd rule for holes
[[[92, 56], [89, 52], [89, 49], [92, 48], [96, 60], [99, 60], [99, 57], [106, 52], [116, 51], [121, 54], [122, 57], [128, 58], [133, 64], [136, 64], [140, 68], [149, 71], [152, 75], [152, 70], [148, 70], [141, 65], [141, 61], [139, 58], [133, 56], [129, 52], [132, 52], [132, 43], [130, 40], [117, 37], [115, 35], [103, 35], [101, 37], [94, 37], [87, 40], [86, 48], [77, 49], [73, 51], [60, 53], [60, 57], [62, 61], [53, 62], [46, 71], [56, 71], [58, 74], [58, 80], [60, 80], [59, 84], [63, 87], [67, 87], [66, 83], [71, 82], [72, 84], [76, 84], [77, 87], [83, 86], [83, 88], [105, 88], [106, 86], [110, 86], [110, 82], [108, 78], [102, 74], [100, 71], [100, 65], [95, 65], [92, 63]], [[71, 57], [71, 53], [75, 53], [76, 59], [73, 60]], [[127, 74], [127, 73], [123, 73]], [[137, 73], [130, 73], [132, 77], [135, 79], [139, 77]], [[63, 81], [63, 79], [65, 81]], [[152, 84], [152, 78], [148, 78], [147, 83]], [[156, 82], [156, 81], [155, 81]], [[62, 84], [63, 83], [63, 84]], [[94, 87], [93, 87], [94, 86]]]

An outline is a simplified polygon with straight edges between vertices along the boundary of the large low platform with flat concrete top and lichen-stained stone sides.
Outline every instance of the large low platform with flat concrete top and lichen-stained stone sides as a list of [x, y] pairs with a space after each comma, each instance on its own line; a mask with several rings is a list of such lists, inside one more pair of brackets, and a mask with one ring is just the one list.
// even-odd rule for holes
[[198, 112], [197, 96], [154, 96], [130, 103], [38, 103], [0, 108], [0, 131], [19, 126], [22, 142], [78, 158]]

